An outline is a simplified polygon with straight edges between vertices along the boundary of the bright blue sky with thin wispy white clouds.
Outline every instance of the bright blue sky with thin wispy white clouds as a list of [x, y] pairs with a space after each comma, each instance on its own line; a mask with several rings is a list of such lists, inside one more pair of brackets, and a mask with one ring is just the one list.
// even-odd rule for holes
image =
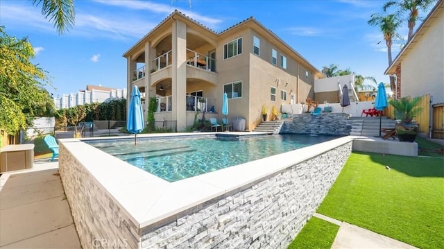
[[[188, 0], [77, 0], [74, 27], [58, 35], [40, 6], [1, 0], [0, 25], [9, 35], [28, 37], [36, 52], [33, 62], [48, 71], [53, 87], [47, 88], [55, 96], [86, 85], [125, 88], [122, 54], [175, 9], [218, 33], [253, 16], [319, 70], [334, 63], [388, 83], [385, 42], [379, 29], [367, 24], [385, 2], [192, 0], [190, 6]], [[404, 36], [405, 26], [400, 29]], [[399, 50], [394, 44], [393, 58]]]

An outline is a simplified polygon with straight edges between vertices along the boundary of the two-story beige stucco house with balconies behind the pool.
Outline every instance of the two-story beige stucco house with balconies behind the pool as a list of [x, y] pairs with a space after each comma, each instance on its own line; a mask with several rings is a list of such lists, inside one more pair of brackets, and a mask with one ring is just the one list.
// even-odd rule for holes
[[176, 10], [123, 57], [128, 94], [137, 85], [157, 98], [156, 121], [176, 121], [179, 131], [192, 125], [196, 110], [220, 121], [224, 92], [228, 119], [242, 117], [253, 130], [262, 105], [269, 114], [273, 105], [279, 110], [282, 103], [314, 98], [314, 80], [323, 78], [253, 17], [216, 33]]

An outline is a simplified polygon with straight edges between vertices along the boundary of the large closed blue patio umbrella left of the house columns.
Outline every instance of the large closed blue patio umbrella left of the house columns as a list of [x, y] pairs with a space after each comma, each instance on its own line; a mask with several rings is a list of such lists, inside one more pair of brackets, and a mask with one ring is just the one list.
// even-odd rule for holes
[[144, 130], [144, 112], [142, 103], [140, 103], [140, 92], [137, 86], [133, 86], [131, 91], [130, 106], [128, 108], [128, 119], [126, 121], [126, 130], [134, 134], [134, 145], [137, 144], [137, 133]]

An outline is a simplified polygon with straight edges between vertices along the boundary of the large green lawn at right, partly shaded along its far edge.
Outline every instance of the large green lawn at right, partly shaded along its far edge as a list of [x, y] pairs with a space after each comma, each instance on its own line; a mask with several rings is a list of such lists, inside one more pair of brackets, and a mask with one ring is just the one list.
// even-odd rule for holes
[[444, 158], [354, 152], [317, 212], [412, 246], [443, 248]]

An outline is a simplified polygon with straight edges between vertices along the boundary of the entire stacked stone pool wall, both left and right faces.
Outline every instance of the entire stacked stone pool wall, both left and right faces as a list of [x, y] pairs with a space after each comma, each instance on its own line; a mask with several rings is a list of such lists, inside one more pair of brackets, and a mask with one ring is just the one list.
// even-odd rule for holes
[[59, 169], [83, 248], [287, 248], [351, 151], [349, 141], [140, 229], [62, 143]]

